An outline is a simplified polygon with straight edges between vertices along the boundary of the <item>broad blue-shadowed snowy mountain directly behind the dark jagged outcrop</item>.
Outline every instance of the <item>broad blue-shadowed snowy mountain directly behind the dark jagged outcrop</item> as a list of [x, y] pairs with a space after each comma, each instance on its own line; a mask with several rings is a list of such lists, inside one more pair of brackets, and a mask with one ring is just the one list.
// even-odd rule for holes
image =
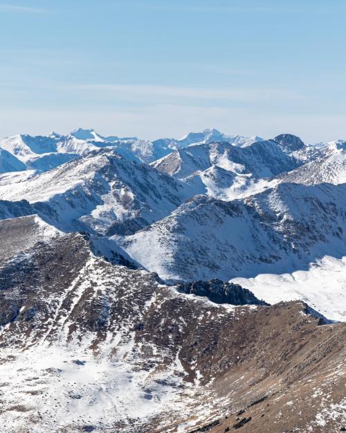
[[[129, 256], [167, 280], [305, 270], [324, 256], [346, 255], [345, 188], [277, 184], [231, 202], [197, 196], [117, 241]], [[334, 312], [344, 297], [335, 297]]]

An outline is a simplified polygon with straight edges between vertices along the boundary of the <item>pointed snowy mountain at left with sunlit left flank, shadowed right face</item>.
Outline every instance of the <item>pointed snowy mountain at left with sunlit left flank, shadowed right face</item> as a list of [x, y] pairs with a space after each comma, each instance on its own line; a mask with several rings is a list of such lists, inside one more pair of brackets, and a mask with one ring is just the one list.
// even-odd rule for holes
[[[115, 150], [89, 152], [46, 173], [0, 177], [0, 198], [26, 200], [60, 229], [133, 233], [160, 220], [192, 195], [187, 184]], [[24, 214], [26, 215], [26, 213]]]

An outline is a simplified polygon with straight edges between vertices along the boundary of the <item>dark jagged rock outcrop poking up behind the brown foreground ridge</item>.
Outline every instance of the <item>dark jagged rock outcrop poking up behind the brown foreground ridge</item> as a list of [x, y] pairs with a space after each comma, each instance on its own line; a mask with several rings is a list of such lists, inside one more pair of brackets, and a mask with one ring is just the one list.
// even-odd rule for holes
[[176, 286], [178, 292], [196, 294], [199, 297], [207, 297], [215, 303], [230, 303], [234, 306], [268, 305], [257, 299], [250, 290], [243, 289], [239, 284], [228, 283], [218, 279], [210, 281], [192, 281]]

